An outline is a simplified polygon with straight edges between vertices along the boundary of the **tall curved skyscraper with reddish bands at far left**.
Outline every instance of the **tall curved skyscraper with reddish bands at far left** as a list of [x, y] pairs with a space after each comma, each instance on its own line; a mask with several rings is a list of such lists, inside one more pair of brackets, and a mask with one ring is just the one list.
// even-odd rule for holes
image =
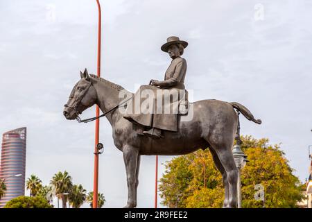
[[25, 195], [26, 127], [3, 133], [0, 166], [0, 178], [6, 184], [1, 208], [12, 198]]

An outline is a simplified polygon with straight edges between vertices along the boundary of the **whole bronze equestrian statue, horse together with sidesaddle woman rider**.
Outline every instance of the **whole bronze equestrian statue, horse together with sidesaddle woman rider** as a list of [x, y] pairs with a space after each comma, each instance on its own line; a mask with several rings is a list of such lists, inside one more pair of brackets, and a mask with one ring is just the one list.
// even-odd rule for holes
[[182, 58], [188, 43], [179, 37], [168, 37], [162, 51], [171, 57], [164, 80], [150, 80], [133, 94], [126, 89], [80, 71], [80, 80], [73, 87], [67, 104], [66, 119], [89, 122], [99, 117], [81, 120], [81, 114], [96, 104], [112, 125], [116, 148], [123, 152], [128, 185], [128, 203], [137, 206], [141, 155], [184, 155], [209, 148], [217, 169], [223, 177], [225, 199], [223, 207], [237, 207], [236, 168], [232, 147], [238, 126], [237, 112], [254, 123], [252, 113], [236, 102], [207, 99], [188, 101], [184, 86], [187, 61]]

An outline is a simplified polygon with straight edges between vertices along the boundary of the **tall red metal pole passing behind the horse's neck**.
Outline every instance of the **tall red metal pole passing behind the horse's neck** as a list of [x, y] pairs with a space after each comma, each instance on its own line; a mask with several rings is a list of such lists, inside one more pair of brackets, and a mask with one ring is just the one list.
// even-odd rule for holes
[[[98, 5], [98, 61], [96, 74], [98, 77], [101, 76], [101, 6], [100, 2], [96, 0]], [[100, 114], [100, 109], [96, 105], [96, 117]], [[98, 208], [98, 149], [96, 145], [98, 144], [98, 137], [100, 132], [100, 119], [96, 119], [95, 128], [95, 146], [94, 146], [94, 181], [93, 181], [93, 208]]]

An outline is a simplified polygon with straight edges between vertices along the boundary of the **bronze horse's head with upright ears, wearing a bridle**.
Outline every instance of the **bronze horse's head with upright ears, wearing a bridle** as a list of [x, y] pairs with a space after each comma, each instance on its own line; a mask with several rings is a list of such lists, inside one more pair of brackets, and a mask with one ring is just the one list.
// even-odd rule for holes
[[71, 90], [69, 100], [64, 105], [63, 114], [66, 119], [77, 119], [79, 114], [96, 103], [96, 89], [92, 85], [87, 69], [83, 73], [80, 71], [80, 77], [81, 79]]

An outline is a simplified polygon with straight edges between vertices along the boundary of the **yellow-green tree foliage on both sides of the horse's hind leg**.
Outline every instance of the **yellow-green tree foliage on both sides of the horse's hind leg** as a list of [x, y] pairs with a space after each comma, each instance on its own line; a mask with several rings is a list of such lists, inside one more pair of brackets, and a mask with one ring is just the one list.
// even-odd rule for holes
[[[248, 155], [241, 171], [242, 206], [263, 207], [255, 200], [255, 185], [263, 185], [265, 207], [297, 207], [302, 200], [300, 180], [293, 175], [279, 144], [270, 145], [268, 139], [241, 137], [242, 149]], [[220, 172], [214, 167], [209, 149], [182, 155], [166, 162], [160, 179], [162, 204], [168, 207], [222, 207], [224, 198]]]

